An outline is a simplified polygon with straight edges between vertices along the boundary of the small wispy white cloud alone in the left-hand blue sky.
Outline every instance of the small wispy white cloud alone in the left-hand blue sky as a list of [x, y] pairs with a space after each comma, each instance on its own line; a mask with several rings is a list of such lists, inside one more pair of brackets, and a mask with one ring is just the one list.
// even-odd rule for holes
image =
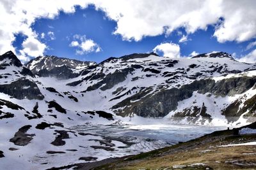
[[86, 36], [74, 35], [74, 41], [69, 46], [77, 47], [76, 53], [83, 55], [84, 53], [100, 52], [100, 46], [92, 39], [87, 39]]

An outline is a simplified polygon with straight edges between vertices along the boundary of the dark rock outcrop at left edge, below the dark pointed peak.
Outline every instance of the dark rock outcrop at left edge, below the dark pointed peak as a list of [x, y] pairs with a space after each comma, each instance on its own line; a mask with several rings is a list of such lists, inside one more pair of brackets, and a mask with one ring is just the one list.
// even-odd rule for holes
[[44, 99], [35, 82], [28, 79], [19, 79], [10, 84], [0, 85], [0, 92], [8, 94], [16, 99]]

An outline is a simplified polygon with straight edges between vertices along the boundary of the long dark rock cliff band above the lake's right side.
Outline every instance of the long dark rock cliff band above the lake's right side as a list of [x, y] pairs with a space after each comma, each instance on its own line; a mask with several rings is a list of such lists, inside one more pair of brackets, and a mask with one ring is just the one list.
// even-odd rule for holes
[[[177, 108], [179, 101], [191, 97], [194, 91], [198, 91], [202, 94], [211, 92], [215, 96], [232, 96], [249, 90], [255, 83], [256, 77], [247, 76], [225, 79], [217, 83], [215, 83], [214, 80], [196, 80], [189, 85], [180, 87], [180, 89], [172, 88], [169, 90], [161, 90], [154, 94], [154, 96], [146, 96], [148, 93], [147, 90], [142, 91], [116, 104], [112, 109], [129, 106], [125, 107], [124, 110], [117, 110], [116, 113], [122, 116], [134, 113], [140, 117], [164, 117], [168, 115], [170, 111]], [[140, 99], [140, 101], [137, 101], [138, 99]], [[133, 103], [131, 101], [137, 102]], [[188, 113], [188, 110], [185, 110], [184, 113], [177, 113], [175, 116], [186, 117], [186, 113]], [[196, 111], [196, 113], [198, 113], [198, 111]], [[191, 114], [191, 116], [196, 116], [196, 113]]]

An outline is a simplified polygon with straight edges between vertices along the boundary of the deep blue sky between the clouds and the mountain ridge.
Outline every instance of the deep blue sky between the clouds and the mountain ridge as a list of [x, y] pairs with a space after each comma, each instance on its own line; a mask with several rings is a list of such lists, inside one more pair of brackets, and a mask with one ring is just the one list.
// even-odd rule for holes
[[[141, 33], [142, 36], [140, 35], [143, 38], [136, 39], [135, 33], [134, 38], [131, 38], [131, 36], [129, 37], [131, 32], [127, 33], [125, 32], [126, 30], [120, 30], [121, 26], [118, 25], [120, 20], [111, 17], [111, 15], [109, 17], [108, 10], [102, 11], [99, 6], [95, 9], [95, 5], [92, 4], [85, 8], [75, 6], [74, 10], [75, 12], [71, 13], [60, 10], [54, 17], [36, 17], [29, 25], [33, 35], [37, 35], [35, 36], [36, 40], [33, 40], [35, 45], [29, 42], [27, 44], [24, 43], [28, 41], [30, 34], [26, 34], [25, 31], [16, 31], [14, 34], [15, 39], [12, 41], [15, 52], [18, 55], [26, 55], [30, 59], [36, 57], [37, 53], [30, 55], [29, 52], [40, 49], [36, 46], [37, 41], [45, 45], [45, 48], [41, 46], [43, 48], [41, 55], [56, 55], [58, 57], [95, 62], [130, 53], [152, 52], [157, 45], [163, 43], [179, 46], [179, 56], [181, 57], [189, 56], [192, 52], [223, 51], [234, 54], [239, 58], [255, 50], [255, 45], [248, 48], [248, 45], [255, 43], [255, 36], [243, 41], [238, 41], [237, 36], [234, 36], [233, 39], [229, 40], [229, 37], [229, 39], [226, 38], [225, 41], [220, 43], [220, 36], [214, 36], [216, 29], [220, 28], [220, 25], [216, 25], [220, 24], [219, 22], [205, 24], [207, 26], [204, 28], [200, 28], [201, 25], [196, 25], [196, 30], [192, 32], [189, 32], [189, 27], [183, 24], [185, 26], [181, 25], [173, 29], [170, 34], [167, 34], [167, 31], [147, 34], [143, 32], [144, 28], [140, 27], [138, 32], [143, 32]], [[227, 18], [219, 17], [218, 20], [223, 20], [224, 22]], [[132, 28], [137, 27], [137, 25], [138, 23], [136, 22], [129, 22], [127, 27]], [[154, 25], [150, 26], [154, 27]], [[193, 24], [191, 27], [193, 27]], [[114, 33], [116, 30], [119, 31], [117, 34]], [[147, 28], [145, 27], [146, 31]], [[182, 36], [186, 37], [186, 41], [180, 42]], [[90, 40], [90, 43], [84, 44], [82, 48], [83, 42], [85, 43], [88, 40]], [[25, 48], [28, 49], [24, 50]], [[157, 52], [159, 55], [164, 55], [165, 53], [163, 49], [158, 49]]]

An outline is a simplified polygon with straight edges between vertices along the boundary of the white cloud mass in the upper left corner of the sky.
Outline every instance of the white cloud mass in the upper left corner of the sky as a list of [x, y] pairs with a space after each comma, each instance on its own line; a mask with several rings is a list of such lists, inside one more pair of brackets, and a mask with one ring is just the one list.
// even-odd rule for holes
[[[51, 5], [49, 5], [51, 4]], [[15, 41], [15, 34], [24, 34], [28, 37], [22, 43], [22, 49], [17, 57], [26, 61], [30, 57], [38, 57], [42, 55], [46, 49], [46, 45], [38, 40], [44, 38], [44, 34], [38, 35], [31, 29], [31, 25], [36, 18], [54, 18], [60, 10], [65, 13], [75, 11], [74, 5], [86, 7], [84, 1], [27, 1], [27, 0], [3, 0], [0, 1], [0, 53], [15, 48], [12, 43]], [[51, 35], [52, 36], [52, 35]]]

